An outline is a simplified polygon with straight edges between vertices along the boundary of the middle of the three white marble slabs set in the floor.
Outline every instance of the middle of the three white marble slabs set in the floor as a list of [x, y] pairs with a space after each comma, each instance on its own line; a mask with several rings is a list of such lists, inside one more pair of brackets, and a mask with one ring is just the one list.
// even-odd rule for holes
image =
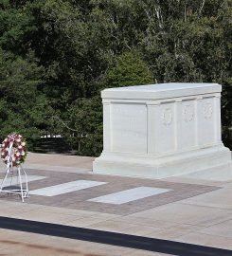
[[30, 194], [54, 196], [66, 192], [77, 192], [95, 186], [104, 185], [107, 182], [98, 182], [92, 180], [76, 180], [67, 183], [62, 183], [55, 186], [50, 186], [29, 192]]

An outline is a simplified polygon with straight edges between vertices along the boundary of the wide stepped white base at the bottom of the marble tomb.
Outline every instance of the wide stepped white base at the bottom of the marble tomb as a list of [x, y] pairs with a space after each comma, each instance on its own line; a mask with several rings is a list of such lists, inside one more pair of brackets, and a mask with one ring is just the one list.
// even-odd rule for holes
[[[210, 170], [217, 172], [220, 180], [232, 178], [231, 152], [223, 144], [208, 149], [180, 152], [175, 155], [141, 155], [102, 152], [93, 163], [97, 174], [115, 174], [149, 178], [166, 178], [183, 174], [203, 177]], [[188, 176], [189, 176], [188, 175]], [[214, 175], [215, 176], [215, 175]]]

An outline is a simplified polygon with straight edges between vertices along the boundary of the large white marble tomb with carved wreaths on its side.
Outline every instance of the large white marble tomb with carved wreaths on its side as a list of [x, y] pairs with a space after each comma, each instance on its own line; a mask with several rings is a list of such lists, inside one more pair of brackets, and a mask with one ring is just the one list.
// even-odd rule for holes
[[102, 154], [93, 172], [163, 178], [231, 170], [221, 138], [217, 83], [160, 83], [105, 89]]

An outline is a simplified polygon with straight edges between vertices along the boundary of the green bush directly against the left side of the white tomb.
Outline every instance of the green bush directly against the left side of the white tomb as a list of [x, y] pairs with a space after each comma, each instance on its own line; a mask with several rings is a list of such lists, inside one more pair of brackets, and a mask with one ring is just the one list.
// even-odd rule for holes
[[103, 138], [100, 97], [74, 101], [67, 115], [68, 124], [65, 124], [62, 131], [67, 142], [79, 155], [99, 155], [102, 151]]

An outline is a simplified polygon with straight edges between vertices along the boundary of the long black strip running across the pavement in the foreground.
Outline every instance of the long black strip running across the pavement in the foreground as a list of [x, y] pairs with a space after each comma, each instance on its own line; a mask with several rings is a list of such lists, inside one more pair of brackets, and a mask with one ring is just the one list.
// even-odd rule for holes
[[232, 250], [204, 247], [149, 237], [96, 229], [82, 229], [59, 224], [0, 217], [0, 229], [12, 229], [58, 236], [118, 247], [131, 247], [179, 256], [231, 256]]

